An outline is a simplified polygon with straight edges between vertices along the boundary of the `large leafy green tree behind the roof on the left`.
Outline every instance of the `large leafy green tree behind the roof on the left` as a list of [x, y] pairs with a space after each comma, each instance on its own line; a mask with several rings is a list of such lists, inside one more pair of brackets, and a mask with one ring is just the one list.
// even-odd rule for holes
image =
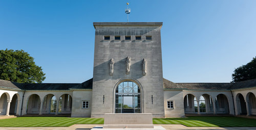
[[24, 50], [0, 50], [0, 79], [17, 83], [41, 83], [46, 79], [42, 68]]

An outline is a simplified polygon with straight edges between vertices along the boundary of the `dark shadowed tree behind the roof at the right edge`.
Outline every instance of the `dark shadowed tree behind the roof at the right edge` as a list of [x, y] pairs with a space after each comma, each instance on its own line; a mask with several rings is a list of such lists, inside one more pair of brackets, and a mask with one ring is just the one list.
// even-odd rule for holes
[[234, 70], [232, 74], [232, 82], [240, 82], [256, 79], [256, 57], [246, 65], [242, 65]]

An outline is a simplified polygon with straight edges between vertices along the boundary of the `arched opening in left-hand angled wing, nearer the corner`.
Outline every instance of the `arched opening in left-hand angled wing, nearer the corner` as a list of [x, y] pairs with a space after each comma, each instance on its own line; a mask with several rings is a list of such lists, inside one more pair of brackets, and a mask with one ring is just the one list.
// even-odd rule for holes
[[19, 101], [20, 101], [20, 96], [18, 93], [15, 93], [12, 96], [12, 101], [10, 104], [10, 111], [9, 111], [10, 114], [18, 115], [17, 110], [19, 109]]

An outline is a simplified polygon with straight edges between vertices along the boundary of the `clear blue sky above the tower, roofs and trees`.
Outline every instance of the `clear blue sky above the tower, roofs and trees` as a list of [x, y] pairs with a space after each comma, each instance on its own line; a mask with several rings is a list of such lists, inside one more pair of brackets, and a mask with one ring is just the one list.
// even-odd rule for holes
[[[0, 49], [23, 49], [43, 83], [93, 76], [93, 22], [126, 22], [124, 0], [0, 0]], [[176, 83], [230, 82], [256, 56], [256, 1], [129, 0], [131, 22], [163, 22], [163, 77]]]

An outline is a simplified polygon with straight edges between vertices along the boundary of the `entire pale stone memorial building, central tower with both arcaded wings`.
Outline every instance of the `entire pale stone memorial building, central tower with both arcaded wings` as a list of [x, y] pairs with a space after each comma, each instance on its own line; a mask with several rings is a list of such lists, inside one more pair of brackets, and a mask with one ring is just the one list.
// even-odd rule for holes
[[256, 115], [256, 79], [173, 83], [163, 78], [162, 22], [94, 22], [93, 78], [80, 84], [0, 80], [0, 115], [105, 113]]

